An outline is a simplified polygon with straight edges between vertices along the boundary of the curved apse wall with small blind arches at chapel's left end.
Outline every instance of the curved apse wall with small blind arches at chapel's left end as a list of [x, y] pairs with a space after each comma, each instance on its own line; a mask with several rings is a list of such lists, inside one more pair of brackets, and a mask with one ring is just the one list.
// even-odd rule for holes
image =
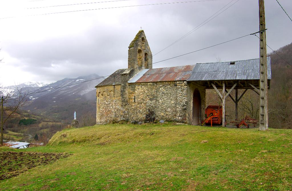
[[120, 121], [121, 85], [98, 86], [96, 89], [96, 123]]

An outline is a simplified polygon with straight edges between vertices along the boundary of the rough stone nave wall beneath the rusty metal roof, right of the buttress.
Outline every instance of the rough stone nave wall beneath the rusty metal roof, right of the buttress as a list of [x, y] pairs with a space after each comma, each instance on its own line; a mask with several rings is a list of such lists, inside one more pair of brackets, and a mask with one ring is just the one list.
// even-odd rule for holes
[[187, 122], [187, 82], [154, 82], [129, 84], [129, 120]]

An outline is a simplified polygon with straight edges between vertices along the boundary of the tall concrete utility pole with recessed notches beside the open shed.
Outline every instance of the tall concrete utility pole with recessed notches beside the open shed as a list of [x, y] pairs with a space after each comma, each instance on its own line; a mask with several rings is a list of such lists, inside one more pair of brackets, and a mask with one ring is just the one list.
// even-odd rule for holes
[[266, 29], [265, 24], [265, 3], [259, 0], [259, 18], [260, 18], [260, 126], [259, 130], [268, 129], [268, 79], [267, 79], [267, 47], [266, 47]]

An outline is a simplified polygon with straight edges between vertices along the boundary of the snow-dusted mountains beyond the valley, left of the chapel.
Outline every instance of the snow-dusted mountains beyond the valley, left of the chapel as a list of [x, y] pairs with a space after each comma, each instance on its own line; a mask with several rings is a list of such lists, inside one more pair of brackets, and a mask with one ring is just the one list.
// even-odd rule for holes
[[[77, 112], [79, 119], [88, 112], [95, 115], [95, 86], [104, 79], [104, 77], [97, 74], [91, 74], [77, 78], [64, 78], [51, 84], [41, 82], [20, 84], [19, 87], [23, 91], [32, 93], [28, 95], [26, 105], [22, 109], [65, 122], [70, 122], [74, 119], [74, 111]], [[11, 90], [13, 88], [15, 86], [5, 87], [5, 89]]]

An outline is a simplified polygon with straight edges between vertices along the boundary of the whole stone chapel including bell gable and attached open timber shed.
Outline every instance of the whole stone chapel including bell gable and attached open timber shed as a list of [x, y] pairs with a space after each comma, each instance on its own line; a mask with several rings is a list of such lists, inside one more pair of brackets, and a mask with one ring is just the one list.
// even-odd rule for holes
[[[206, 89], [216, 90], [223, 113], [229, 96], [235, 103], [236, 116], [237, 102], [244, 93], [248, 89], [260, 91], [260, 59], [152, 68], [152, 53], [143, 30], [128, 48], [128, 68], [115, 71], [95, 86], [98, 124], [163, 119], [199, 125], [205, 118]], [[270, 88], [270, 57], [267, 65]], [[245, 89], [239, 98], [238, 89]]]

